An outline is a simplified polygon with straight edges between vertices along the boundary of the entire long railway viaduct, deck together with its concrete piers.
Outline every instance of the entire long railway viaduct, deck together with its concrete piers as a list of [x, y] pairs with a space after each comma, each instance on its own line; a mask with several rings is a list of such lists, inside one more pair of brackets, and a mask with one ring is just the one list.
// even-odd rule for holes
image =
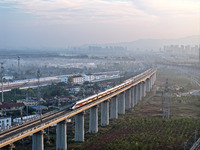
[[[84, 142], [84, 111], [90, 109], [89, 133], [98, 132], [98, 104], [101, 104], [101, 126], [107, 126], [109, 119], [117, 119], [118, 114], [125, 114], [138, 101], [145, 97], [156, 80], [156, 69], [134, 76], [124, 83], [99, 94], [95, 101], [72, 111], [63, 108], [57, 112], [44, 114], [17, 126], [0, 132], [0, 148], [12, 145], [15, 141], [32, 135], [32, 149], [43, 150], [43, 130], [56, 124], [56, 149], [67, 149], [66, 119], [75, 116], [75, 141]], [[110, 105], [110, 106], [109, 106]], [[110, 112], [110, 116], [109, 116]], [[41, 121], [42, 119], [42, 121]]]

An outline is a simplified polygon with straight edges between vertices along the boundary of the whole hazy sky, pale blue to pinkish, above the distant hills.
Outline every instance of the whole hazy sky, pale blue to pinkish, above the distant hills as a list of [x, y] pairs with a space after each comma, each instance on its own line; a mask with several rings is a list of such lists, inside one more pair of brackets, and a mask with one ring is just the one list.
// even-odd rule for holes
[[200, 0], [0, 0], [0, 48], [200, 34]]

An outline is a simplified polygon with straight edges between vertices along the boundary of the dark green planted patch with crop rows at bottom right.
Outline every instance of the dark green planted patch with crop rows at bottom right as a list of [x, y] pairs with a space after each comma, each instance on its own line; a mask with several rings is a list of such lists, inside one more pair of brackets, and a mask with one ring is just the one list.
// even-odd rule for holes
[[100, 149], [182, 149], [182, 143], [192, 136], [194, 130], [199, 130], [199, 126], [200, 122], [195, 119], [130, 119], [112, 133], [117, 138], [102, 143], [104, 146]]

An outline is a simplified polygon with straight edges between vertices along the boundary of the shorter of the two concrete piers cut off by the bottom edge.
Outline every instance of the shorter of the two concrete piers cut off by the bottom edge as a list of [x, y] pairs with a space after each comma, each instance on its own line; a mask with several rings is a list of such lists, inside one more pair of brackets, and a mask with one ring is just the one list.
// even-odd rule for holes
[[32, 150], [44, 150], [44, 131], [39, 131], [32, 136]]

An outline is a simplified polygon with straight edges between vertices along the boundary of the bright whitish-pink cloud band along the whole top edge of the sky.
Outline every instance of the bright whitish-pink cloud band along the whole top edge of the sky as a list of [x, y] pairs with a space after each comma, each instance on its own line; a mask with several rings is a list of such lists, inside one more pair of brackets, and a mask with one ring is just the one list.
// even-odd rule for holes
[[2, 0], [0, 2], [0, 8], [10, 7], [32, 15], [35, 20], [54, 23], [154, 21], [158, 17], [197, 15], [199, 5], [200, 2], [196, 0]]

